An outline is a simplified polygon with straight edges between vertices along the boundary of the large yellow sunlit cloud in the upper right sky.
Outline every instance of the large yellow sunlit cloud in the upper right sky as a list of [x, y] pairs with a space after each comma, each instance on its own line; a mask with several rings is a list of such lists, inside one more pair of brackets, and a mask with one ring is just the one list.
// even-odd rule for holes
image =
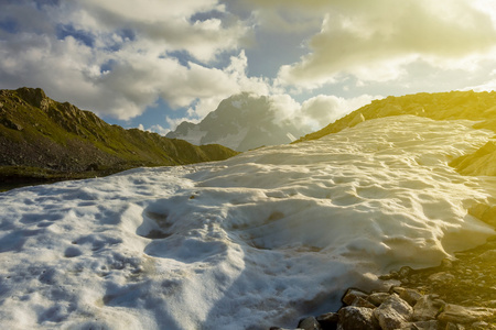
[[315, 88], [346, 75], [387, 81], [405, 75], [406, 66], [416, 61], [439, 68], [467, 68], [467, 63], [492, 58], [496, 45], [494, 16], [467, 0], [257, 3], [323, 16], [321, 31], [309, 42], [310, 53], [280, 68], [280, 81], [287, 85]]

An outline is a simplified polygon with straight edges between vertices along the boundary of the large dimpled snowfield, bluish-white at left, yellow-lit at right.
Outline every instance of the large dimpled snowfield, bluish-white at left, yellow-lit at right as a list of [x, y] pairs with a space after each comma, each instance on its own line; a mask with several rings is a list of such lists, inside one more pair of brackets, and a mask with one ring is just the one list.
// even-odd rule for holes
[[391, 117], [234, 158], [0, 194], [0, 328], [267, 329], [339, 306], [494, 229], [492, 177], [448, 162], [493, 133]]

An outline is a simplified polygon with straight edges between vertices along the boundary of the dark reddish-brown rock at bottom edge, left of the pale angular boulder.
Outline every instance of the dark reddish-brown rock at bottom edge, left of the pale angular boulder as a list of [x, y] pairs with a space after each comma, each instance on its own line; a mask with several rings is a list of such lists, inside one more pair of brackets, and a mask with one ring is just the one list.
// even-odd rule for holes
[[338, 311], [339, 330], [380, 329], [373, 309], [366, 307], [346, 306]]

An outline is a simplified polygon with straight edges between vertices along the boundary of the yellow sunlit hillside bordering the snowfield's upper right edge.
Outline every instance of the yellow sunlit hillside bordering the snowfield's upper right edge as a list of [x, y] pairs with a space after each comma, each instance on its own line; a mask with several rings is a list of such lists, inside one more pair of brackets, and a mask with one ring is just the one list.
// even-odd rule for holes
[[[388, 97], [375, 100], [295, 142], [316, 140], [366, 120], [401, 114], [434, 120], [467, 119], [477, 121], [475, 129], [496, 132], [496, 92], [470, 90]], [[488, 141], [475, 153], [456, 158], [451, 165], [464, 175], [496, 175], [496, 144], [494, 141]]]

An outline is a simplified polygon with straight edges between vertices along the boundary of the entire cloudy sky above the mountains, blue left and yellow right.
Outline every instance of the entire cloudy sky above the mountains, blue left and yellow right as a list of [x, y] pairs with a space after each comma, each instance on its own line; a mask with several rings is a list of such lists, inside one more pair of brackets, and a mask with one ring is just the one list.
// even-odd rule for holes
[[231, 95], [315, 129], [370, 100], [496, 88], [493, 0], [0, 0], [0, 88], [160, 134]]

